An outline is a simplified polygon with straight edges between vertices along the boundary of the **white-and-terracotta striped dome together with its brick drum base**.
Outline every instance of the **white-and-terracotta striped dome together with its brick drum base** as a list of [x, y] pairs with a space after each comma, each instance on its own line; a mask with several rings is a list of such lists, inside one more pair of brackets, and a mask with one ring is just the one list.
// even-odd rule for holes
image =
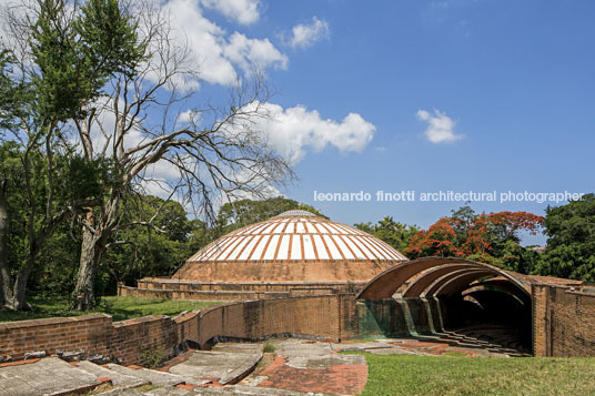
[[192, 255], [172, 278], [361, 282], [405, 260], [361, 230], [293, 210], [218, 238]]

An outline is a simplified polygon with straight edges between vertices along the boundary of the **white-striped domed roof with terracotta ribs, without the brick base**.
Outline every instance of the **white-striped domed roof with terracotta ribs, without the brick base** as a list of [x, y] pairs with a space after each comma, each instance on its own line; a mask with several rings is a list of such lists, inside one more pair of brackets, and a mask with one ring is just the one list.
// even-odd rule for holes
[[400, 262], [395, 248], [355, 227], [293, 210], [235, 230], [209, 244], [192, 262]]

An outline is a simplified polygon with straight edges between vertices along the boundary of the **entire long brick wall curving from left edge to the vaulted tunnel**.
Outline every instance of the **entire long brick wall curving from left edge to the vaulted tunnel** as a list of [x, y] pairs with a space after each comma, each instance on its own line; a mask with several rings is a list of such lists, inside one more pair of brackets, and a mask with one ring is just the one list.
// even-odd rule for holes
[[[300, 296], [229, 303], [170, 318], [144, 316], [112, 323], [104, 314], [0, 324], [0, 362], [27, 353], [82, 353], [138, 364], [145, 349], [172, 355], [184, 341], [205, 347], [216, 338], [264, 339], [275, 335], [342, 338], [352, 319], [353, 295]], [[340, 309], [343, 307], [343, 311]], [[353, 332], [352, 332], [353, 333]], [[344, 335], [343, 335], [344, 337]]]

